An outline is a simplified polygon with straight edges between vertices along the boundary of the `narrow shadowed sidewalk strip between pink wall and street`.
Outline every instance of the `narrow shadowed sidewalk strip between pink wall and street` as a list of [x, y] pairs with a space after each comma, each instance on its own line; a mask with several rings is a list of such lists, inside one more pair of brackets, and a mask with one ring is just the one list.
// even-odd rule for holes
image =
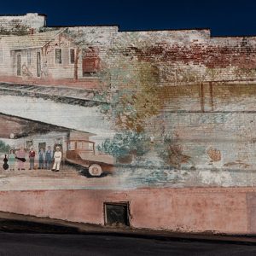
[[0, 232], [80, 234], [139, 237], [161, 241], [205, 241], [256, 245], [256, 235], [225, 235], [214, 233], [182, 233], [166, 230], [132, 229], [128, 227], [109, 227], [96, 224], [73, 223], [53, 218], [0, 212]]

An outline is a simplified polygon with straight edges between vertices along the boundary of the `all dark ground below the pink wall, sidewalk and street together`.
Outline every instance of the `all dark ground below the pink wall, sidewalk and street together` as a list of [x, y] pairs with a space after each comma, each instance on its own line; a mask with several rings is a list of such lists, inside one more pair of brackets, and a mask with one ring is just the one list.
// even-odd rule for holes
[[0, 212], [1, 255], [256, 255], [256, 237], [133, 230]]

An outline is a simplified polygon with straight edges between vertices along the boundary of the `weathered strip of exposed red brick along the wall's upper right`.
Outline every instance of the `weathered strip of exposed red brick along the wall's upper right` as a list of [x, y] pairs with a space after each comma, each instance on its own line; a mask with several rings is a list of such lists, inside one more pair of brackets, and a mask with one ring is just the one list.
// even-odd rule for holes
[[154, 64], [161, 84], [255, 79], [255, 37], [211, 38], [207, 30], [119, 32], [117, 55]]

